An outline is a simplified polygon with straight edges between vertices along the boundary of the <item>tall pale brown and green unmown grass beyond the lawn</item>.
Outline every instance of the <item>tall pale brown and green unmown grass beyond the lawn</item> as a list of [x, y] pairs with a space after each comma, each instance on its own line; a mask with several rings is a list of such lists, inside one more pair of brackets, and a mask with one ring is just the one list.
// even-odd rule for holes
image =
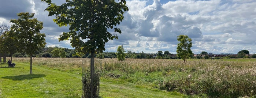
[[[14, 58], [13, 61], [29, 61]], [[33, 64], [66, 72], [81, 72], [85, 59], [33, 58]], [[97, 59], [96, 59], [97, 60]], [[188, 95], [208, 97], [256, 97], [256, 59], [224, 60], [163, 60], [117, 59], [103, 60], [103, 73], [118, 73], [131, 83], [153, 83], [160, 90], [179, 91]], [[113, 74], [111, 74], [113, 75]]]

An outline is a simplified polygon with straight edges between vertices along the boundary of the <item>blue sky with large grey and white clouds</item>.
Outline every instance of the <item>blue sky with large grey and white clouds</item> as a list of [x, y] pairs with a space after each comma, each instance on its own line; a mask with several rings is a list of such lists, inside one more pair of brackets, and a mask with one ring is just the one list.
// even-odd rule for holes
[[[65, 0], [52, 0], [56, 4]], [[256, 0], [126, 0], [129, 11], [118, 25], [118, 39], [108, 41], [104, 52], [116, 52], [119, 45], [127, 52], [176, 54], [177, 36], [192, 39], [192, 52], [256, 53]], [[20, 12], [35, 13], [44, 23], [41, 33], [46, 46], [74, 49], [69, 41], [58, 41], [68, 27], [59, 27], [44, 11], [41, 0], [0, 0], [0, 24], [11, 25]]]

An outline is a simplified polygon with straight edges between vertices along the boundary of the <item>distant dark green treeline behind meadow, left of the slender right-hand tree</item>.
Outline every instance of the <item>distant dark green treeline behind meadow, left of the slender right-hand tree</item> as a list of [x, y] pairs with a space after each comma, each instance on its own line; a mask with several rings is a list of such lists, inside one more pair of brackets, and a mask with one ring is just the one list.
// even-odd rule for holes
[[[165, 51], [164, 54], [162, 51], [159, 53], [135, 53], [127, 51], [125, 58], [131, 59], [177, 59], [176, 57], [171, 57], [168, 51]], [[7, 57], [10, 57], [10, 53], [7, 53]], [[26, 53], [14, 53], [12, 57], [29, 57]], [[78, 54], [75, 52], [75, 49], [68, 48], [59, 48], [59, 47], [45, 47], [38, 48], [33, 57], [59, 57], [59, 58], [90, 58], [90, 53]], [[95, 55], [97, 58], [116, 58], [117, 55], [115, 52], [103, 52]]]

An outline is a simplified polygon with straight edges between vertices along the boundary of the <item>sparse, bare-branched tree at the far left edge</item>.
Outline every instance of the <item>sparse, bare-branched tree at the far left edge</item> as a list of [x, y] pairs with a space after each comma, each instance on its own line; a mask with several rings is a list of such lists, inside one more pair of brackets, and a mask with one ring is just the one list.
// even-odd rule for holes
[[[6, 46], [4, 44], [6, 44], [5, 42], [5, 39], [7, 39], [7, 32], [10, 31], [10, 27], [6, 24], [1, 24], [0, 25], [0, 40], [1, 40], [1, 43], [0, 43], [0, 58], [3, 56], [3, 62], [5, 63], [6, 62], [6, 52], [7, 52], [7, 49], [6, 49]], [[2, 55], [3, 54], [3, 55]], [[2, 59], [0, 59], [0, 62], [2, 62]]]

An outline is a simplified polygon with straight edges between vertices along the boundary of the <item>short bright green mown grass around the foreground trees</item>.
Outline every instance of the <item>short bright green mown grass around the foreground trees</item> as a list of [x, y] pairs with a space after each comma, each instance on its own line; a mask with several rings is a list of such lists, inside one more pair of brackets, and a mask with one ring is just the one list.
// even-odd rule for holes
[[[16, 63], [16, 62], [15, 62]], [[16, 63], [15, 68], [0, 68], [0, 98], [81, 98], [81, 75]], [[146, 84], [145, 84], [146, 85]], [[181, 98], [177, 93], [136, 87], [101, 78], [102, 98]]]

